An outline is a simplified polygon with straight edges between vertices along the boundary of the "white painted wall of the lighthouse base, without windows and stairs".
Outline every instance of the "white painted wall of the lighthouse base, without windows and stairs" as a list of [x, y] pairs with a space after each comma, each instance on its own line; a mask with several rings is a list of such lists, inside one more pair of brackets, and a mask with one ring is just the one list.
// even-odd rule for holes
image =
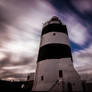
[[[62, 80], [71, 83], [75, 83], [74, 89], [80, 89], [80, 76], [75, 71], [73, 64], [71, 63], [71, 58], [63, 59], [48, 59], [43, 60], [38, 63], [37, 76], [35, 80], [35, 90], [45, 90], [48, 91], [52, 85], [59, 80], [59, 70], [63, 71]], [[44, 80], [41, 80], [41, 76], [44, 76]], [[67, 85], [66, 85], [67, 86]], [[76, 90], [76, 92], [77, 92]], [[58, 91], [57, 91], [58, 92]]]

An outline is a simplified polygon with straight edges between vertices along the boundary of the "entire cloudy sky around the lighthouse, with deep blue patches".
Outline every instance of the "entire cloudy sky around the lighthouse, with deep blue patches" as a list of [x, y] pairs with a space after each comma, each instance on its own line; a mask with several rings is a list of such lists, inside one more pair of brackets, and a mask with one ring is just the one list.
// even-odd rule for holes
[[92, 80], [91, 0], [0, 0], [0, 79], [35, 72], [43, 23], [52, 16], [67, 26], [76, 71]]

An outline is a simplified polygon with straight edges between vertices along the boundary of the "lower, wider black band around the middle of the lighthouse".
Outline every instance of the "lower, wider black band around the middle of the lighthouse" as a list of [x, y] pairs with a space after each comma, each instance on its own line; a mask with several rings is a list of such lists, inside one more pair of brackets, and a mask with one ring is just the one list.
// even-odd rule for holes
[[46, 59], [72, 58], [71, 49], [65, 44], [47, 44], [40, 47], [38, 62]]

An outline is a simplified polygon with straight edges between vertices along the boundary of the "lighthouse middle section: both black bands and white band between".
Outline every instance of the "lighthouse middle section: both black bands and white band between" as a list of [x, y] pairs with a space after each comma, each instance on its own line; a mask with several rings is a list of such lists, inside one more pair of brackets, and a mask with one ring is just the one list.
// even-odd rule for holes
[[66, 26], [49, 24], [42, 30], [38, 62], [46, 59], [71, 58]]

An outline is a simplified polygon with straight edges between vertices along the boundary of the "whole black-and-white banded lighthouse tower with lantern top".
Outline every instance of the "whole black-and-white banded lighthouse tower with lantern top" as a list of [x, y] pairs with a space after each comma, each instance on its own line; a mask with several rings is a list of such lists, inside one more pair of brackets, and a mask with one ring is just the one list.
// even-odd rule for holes
[[56, 16], [44, 23], [33, 91], [82, 92], [73, 66], [68, 32]]

